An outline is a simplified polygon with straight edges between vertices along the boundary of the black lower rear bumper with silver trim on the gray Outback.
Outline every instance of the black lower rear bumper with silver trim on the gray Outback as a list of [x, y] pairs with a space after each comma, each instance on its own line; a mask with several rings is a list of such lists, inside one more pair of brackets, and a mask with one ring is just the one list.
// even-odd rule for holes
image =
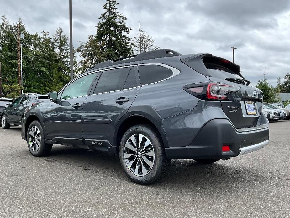
[[[260, 129], [240, 130], [237, 131], [227, 119], [211, 120], [203, 126], [190, 145], [165, 148], [166, 156], [170, 159], [226, 159], [256, 151], [269, 143], [268, 123]], [[223, 145], [229, 145], [230, 151], [222, 152]]]

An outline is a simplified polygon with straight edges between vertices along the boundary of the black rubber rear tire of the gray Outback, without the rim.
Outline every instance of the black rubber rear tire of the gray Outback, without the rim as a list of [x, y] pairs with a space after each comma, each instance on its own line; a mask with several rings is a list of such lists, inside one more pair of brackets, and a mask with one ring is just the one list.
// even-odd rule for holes
[[[126, 165], [126, 160], [124, 158], [124, 149], [127, 140], [135, 134], [142, 134], [147, 137], [154, 149], [154, 164], [150, 170], [150, 172], [144, 176], [137, 176]], [[152, 128], [150, 125], [135, 125], [129, 128], [122, 137], [120, 147], [119, 147], [119, 158], [122, 165], [122, 168], [126, 175], [131, 179], [134, 183], [138, 183], [141, 185], [149, 185], [157, 182], [162, 177], [166, 175], [168, 172], [171, 159], [166, 158], [165, 149], [163, 142], [161, 140], [160, 134]], [[137, 156], [136, 156], [137, 158]], [[138, 163], [138, 162], [137, 162]]]

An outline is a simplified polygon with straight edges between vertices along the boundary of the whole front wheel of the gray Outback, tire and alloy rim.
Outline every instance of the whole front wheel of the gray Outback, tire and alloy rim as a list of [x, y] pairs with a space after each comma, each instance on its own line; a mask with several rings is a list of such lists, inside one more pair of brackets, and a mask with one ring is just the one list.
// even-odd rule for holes
[[37, 120], [32, 121], [28, 127], [27, 145], [30, 153], [37, 157], [48, 155], [52, 148], [52, 144], [45, 143], [43, 128]]

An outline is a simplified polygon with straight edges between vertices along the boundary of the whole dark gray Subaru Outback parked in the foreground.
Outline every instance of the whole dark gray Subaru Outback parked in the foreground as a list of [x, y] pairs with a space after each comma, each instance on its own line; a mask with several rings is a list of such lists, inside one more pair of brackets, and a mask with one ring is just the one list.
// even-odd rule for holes
[[171, 159], [210, 164], [269, 142], [263, 93], [211, 54], [160, 49], [105, 61], [49, 98], [22, 119], [32, 155], [52, 144], [114, 152], [139, 184], [161, 179]]

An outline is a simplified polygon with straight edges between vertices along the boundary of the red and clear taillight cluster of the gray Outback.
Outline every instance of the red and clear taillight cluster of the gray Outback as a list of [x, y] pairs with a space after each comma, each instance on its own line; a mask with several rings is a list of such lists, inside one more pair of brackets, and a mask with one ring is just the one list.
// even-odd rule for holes
[[224, 83], [188, 84], [183, 87], [185, 91], [203, 100], [228, 101], [227, 94], [237, 92], [240, 87]]

